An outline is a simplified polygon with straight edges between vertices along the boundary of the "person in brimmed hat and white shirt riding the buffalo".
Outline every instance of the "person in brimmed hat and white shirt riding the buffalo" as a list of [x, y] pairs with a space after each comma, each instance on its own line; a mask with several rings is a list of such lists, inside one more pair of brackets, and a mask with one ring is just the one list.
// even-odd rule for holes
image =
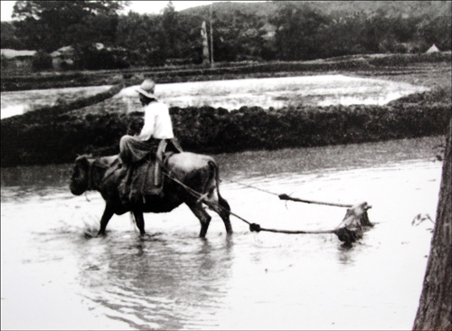
[[174, 151], [181, 152], [179, 144], [174, 141], [173, 124], [168, 106], [158, 101], [154, 95], [154, 80], [144, 80], [137, 88], [139, 99], [145, 111], [145, 123], [138, 135], [126, 135], [119, 141], [119, 157], [125, 165], [136, 165], [139, 161], [154, 154], [155, 186], [162, 184], [161, 164], [168, 142]]

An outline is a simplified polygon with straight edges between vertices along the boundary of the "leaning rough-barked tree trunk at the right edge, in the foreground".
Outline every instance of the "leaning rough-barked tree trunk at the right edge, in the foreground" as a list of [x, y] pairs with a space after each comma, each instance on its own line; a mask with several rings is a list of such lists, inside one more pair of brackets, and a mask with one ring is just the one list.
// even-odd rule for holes
[[452, 330], [452, 118], [449, 123], [437, 219], [413, 330]]

